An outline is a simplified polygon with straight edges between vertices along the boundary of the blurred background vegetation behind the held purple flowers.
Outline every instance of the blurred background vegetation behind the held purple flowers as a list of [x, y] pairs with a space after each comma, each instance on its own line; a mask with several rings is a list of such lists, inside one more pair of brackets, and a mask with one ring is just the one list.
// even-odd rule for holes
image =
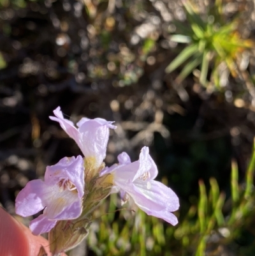
[[1, 205], [80, 154], [61, 106], [116, 122], [106, 165], [149, 146], [181, 205], [171, 227], [112, 195], [69, 255], [255, 255], [254, 31], [251, 0], [0, 0]]

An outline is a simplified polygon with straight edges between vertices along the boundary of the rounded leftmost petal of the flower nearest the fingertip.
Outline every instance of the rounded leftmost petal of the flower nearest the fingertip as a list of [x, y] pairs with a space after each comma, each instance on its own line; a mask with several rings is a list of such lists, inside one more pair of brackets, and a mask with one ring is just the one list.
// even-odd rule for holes
[[25, 188], [18, 193], [15, 200], [16, 213], [20, 216], [27, 217], [38, 213], [46, 205], [43, 204], [38, 192], [44, 190], [45, 183], [41, 179], [29, 181]]

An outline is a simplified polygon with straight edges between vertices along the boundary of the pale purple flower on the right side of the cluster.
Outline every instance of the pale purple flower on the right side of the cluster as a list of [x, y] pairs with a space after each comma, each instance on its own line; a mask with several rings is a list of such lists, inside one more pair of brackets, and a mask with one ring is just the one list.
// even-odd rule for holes
[[120, 192], [122, 202], [132, 197], [135, 204], [147, 215], [176, 225], [177, 217], [171, 212], [179, 209], [179, 199], [171, 188], [154, 181], [157, 167], [150, 157], [149, 148], [142, 148], [140, 158], [136, 162], [131, 163], [125, 152], [119, 154], [118, 160], [119, 165], [113, 165], [101, 172], [101, 176], [113, 174], [112, 193]]

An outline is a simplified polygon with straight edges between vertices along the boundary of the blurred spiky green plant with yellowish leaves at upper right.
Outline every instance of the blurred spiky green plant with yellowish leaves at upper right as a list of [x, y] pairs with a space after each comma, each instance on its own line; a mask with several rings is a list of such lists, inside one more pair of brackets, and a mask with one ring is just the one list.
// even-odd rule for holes
[[200, 84], [208, 86], [207, 76], [212, 66], [210, 82], [219, 88], [221, 86], [219, 68], [223, 63], [233, 77], [241, 77], [246, 80], [245, 82], [250, 80], [240, 68], [240, 57], [245, 50], [254, 47], [254, 41], [241, 37], [238, 32], [240, 19], [237, 17], [230, 22], [224, 19], [221, 0], [215, 1], [215, 7], [212, 9], [208, 6], [205, 15], [207, 19], [202, 19], [189, 1], [183, 3], [188, 24], [184, 26], [182, 22], [175, 21], [177, 30], [179, 29], [181, 34], [171, 36], [171, 41], [189, 45], [168, 65], [166, 73], [173, 72], [185, 63], [176, 79], [177, 83], [180, 83], [200, 66]]

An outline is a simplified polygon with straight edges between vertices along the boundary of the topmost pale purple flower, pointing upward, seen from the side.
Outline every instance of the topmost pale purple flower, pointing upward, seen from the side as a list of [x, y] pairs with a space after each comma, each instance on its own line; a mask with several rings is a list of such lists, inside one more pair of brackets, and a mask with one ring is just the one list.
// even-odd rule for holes
[[75, 140], [85, 158], [94, 157], [96, 166], [99, 167], [106, 156], [106, 146], [109, 139], [109, 128], [115, 129], [112, 121], [102, 118], [89, 119], [83, 117], [75, 127], [73, 122], [64, 119], [60, 107], [54, 110], [50, 119], [59, 122], [62, 129]]

